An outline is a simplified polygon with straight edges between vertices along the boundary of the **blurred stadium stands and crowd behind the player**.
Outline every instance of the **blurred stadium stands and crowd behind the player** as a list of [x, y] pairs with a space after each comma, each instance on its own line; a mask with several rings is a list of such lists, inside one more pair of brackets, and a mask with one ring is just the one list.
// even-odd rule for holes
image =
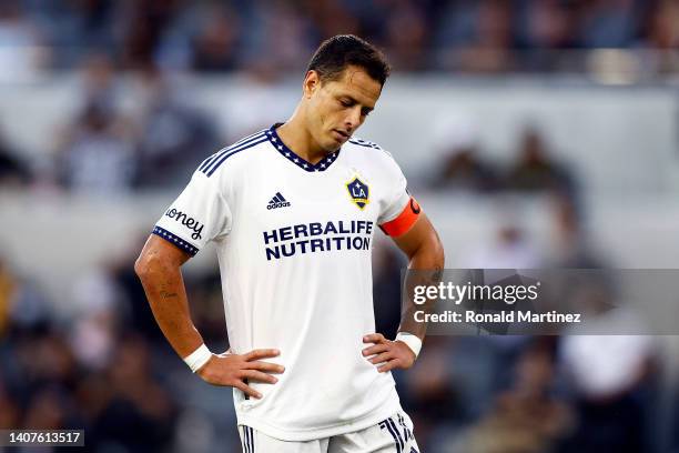
[[[0, 427], [240, 451], [231, 390], [174, 355], [132, 263], [197, 162], [284, 121], [349, 32], [395, 70], [358, 135], [448, 268], [679, 268], [679, 1], [2, 0]], [[403, 265], [383, 238], [391, 335]], [[213, 253], [185, 268], [225, 350]], [[432, 336], [396, 379], [427, 453], [679, 452], [675, 336]]]

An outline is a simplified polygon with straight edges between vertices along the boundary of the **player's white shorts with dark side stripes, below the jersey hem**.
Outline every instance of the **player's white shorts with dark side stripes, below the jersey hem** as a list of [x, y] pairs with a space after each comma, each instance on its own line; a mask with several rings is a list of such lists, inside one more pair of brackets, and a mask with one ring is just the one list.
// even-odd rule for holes
[[419, 453], [404, 411], [365, 430], [305, 442], [281, 441], [246, 425], [239, 425], [239, 433], [243, 453]]

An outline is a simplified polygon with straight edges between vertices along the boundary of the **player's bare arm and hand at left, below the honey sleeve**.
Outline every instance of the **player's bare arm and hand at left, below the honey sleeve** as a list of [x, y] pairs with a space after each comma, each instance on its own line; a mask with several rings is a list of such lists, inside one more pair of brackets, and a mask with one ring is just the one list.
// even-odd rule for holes
[[[180, 269], [189, 258], [186, 252], [151, 235], [134, 263], [134, 271], [144, 286], [153, 316], [181, 358], [188, 356], [203, 344], [203, 338], [191, 321], [186, 289]], [[268, 349], [254, 350], [242, 355], [213, 354], [197, 374], [211, 384], [234, 386], [247, 395], [261, 397], [246, 381], [270, 384], [277, 382], [275, 376], [267, 373], [282, 373], [283, 366], [259, 361], [276, 355], [277, 350]]]

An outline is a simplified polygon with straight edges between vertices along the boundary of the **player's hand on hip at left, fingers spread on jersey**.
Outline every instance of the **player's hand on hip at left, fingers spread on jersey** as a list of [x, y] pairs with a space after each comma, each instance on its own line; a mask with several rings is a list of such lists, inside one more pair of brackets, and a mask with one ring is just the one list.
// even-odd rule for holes
[[283, 373], [285, 368], [276, 363], [262, 362], [261, 359], [278, 356], [275, 349], [253, 350], [245, 354], [213, 354], [196, 374], [212, 385], [225, 385], [241, 390], [246, 395], [261, 399], [262, 394], [245, 382], [275, 384], [276, 376], [271, 373]]

